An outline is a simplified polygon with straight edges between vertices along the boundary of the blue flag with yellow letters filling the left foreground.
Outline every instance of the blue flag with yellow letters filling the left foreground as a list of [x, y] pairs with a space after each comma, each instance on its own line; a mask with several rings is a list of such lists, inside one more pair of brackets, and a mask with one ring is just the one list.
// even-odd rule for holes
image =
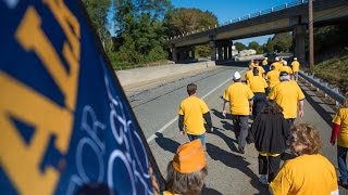
[[158, 194], [163, 179], [80, 1], [0, 0], [1, 194]]

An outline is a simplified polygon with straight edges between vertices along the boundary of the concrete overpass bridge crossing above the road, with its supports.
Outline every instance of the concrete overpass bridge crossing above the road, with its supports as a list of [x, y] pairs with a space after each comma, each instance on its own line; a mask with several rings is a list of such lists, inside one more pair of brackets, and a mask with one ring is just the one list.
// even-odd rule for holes
[[[171, 37], [174, 62], [195, 58], [195, 46], [209, 44], [212, 61], [232, 58], [233, 40], [293, 31], [295, 55], [304, 63], [308, 0], [299, 0], [231, 21], [228, 24]], [[313, 1], [314, 27], [348, 21], [348, 0]]]

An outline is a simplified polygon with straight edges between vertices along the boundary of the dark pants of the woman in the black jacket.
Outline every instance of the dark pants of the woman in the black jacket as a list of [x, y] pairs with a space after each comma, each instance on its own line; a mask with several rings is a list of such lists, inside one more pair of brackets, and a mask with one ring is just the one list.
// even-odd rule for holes
[[261, 156], [259, 154], [259, 174], [268, 174], [268, 182], [271, 183], [279, 171], [281, 155]]

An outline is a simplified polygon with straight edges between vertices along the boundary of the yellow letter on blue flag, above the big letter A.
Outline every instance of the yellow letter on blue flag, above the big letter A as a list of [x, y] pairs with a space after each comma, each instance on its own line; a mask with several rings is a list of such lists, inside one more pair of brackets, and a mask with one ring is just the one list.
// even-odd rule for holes
[[76, 93], [79, 74], [77, 60], [73, 60], [71, 57], [72, 54], [69, 54], [71, 53], [71, 50], [67, 49], [69, 47], [66, 47], [65, 42], [63, 46], [63, 55], [67, 57], [66, 61], [70, 67], [67, 73], [52, 43], [40, 28], [40, 16], [33, 6], [29, 6], [26, 10], [24, 18], [18, 26], [15, 36], [25, 50], [34, 51], [37, 54], [64, 94], [66, 106], [71, 110], [74, 110], [76, 106]]

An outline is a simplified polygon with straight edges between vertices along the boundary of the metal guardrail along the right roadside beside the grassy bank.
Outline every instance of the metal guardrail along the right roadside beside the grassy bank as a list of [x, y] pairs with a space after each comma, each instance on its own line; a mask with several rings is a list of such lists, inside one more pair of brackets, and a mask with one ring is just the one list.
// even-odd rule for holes
[[341, 105], [344, 103], [345, 96], [339, 92], [338, 88], [332, 89], [327, 82], [323, 82], [321, 81], [321, 79], [315, 78], [313, 75], [309, 75], [302, 70], [299, 72], [299, 76], [308, 80], [316, 89], [323, 91], [325, 93], [325, 96], [328, 95], [333, 100], [335, 100], [336, 105]]

